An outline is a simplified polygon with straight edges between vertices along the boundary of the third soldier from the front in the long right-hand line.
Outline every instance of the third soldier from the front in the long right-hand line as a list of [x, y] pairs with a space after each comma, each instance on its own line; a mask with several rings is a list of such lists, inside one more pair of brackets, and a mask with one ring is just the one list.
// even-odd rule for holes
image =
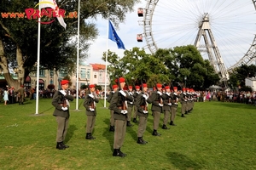
[[157, 129], [159, 127], [160, 122], [160, 114], [163, 109], [163, 99], [162, 99], [162, 93], [161, 93], [162, 85], [160, 83], [156, 84], [156, 91], [151, 94], [149, 97], [149, 100], [152, 102], [151, 111], [154, 116], [154, 122], [153, 122], [153, 133], [154, 136], [160, 136], [160, 133], [157, 133]]

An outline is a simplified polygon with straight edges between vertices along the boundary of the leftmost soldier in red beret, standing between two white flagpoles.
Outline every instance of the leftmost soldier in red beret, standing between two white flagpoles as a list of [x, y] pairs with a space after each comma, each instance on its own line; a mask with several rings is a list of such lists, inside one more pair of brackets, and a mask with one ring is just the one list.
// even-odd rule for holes
[[69, 122], [70, 105], [68, 100], [73, 101], [73, 95], [67, 94], [68, 83], [68, 80], [61, 81], [61, 90], [55, 91], [51, 103], [53, 106], [55, 106], [53, 116], [56, 117], [56, 122], [58, 123], [56, 136], [56, 149], [58, 150], [65, 150], [66, 148], [69, 147], [66, 144], [64, 144]]

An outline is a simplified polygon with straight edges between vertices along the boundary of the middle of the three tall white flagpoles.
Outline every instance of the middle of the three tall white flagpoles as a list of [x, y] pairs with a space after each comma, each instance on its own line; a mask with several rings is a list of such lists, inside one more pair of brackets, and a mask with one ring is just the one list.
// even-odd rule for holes
[[76, 110], [79, 110], [79, 36], [80, 36], [80, 0], [79, 0], [79, 17], [78, 17], [78, 51], [77, 51], [77, 102]]

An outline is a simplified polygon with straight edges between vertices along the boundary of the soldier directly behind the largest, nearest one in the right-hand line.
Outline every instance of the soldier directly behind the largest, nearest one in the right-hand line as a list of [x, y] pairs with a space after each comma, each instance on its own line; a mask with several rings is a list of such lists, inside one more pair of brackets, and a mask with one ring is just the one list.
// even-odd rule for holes
[[[148, 86], [143, 84], [143, 93], [138, 94], [137, 100], [134, 103], [137, 107], [137, 116], [139, 117], [139, 125], [137, 128], [137, 144], [147, 144], [148, 142], [143, 139], [143, 133], [146, 130], [148, 122], [148, 103], [151, 103], [148, 99]], [[148, 103], [147, 103], [148, 102]]]

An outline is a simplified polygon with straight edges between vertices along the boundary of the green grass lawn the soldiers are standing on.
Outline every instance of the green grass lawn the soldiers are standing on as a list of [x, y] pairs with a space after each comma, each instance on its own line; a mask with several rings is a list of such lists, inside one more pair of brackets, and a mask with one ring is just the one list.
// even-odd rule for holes
[[[176, 127], [159, 128], [152, 136], [153, 116], [148, 116], [143, 139], [137, 144], [137, 124], [127, 127], [122, 151], [113, 157], [113, 133], [108, 132], [110, 113], [97, 104], [95, 140], [85, 140], [83, 99], [71, 103], [67, 150], [55, 149], [56, 125], [51, 99], [25, 105], [0, 105], [0, 169], [256, 169], [256, 107], [253, 105], [195, 103], [187, 117], [177, 110]], [[161, 115], [160, 127], [163, 115]], [[170, 127], [170, 126], [168, 126]]]

